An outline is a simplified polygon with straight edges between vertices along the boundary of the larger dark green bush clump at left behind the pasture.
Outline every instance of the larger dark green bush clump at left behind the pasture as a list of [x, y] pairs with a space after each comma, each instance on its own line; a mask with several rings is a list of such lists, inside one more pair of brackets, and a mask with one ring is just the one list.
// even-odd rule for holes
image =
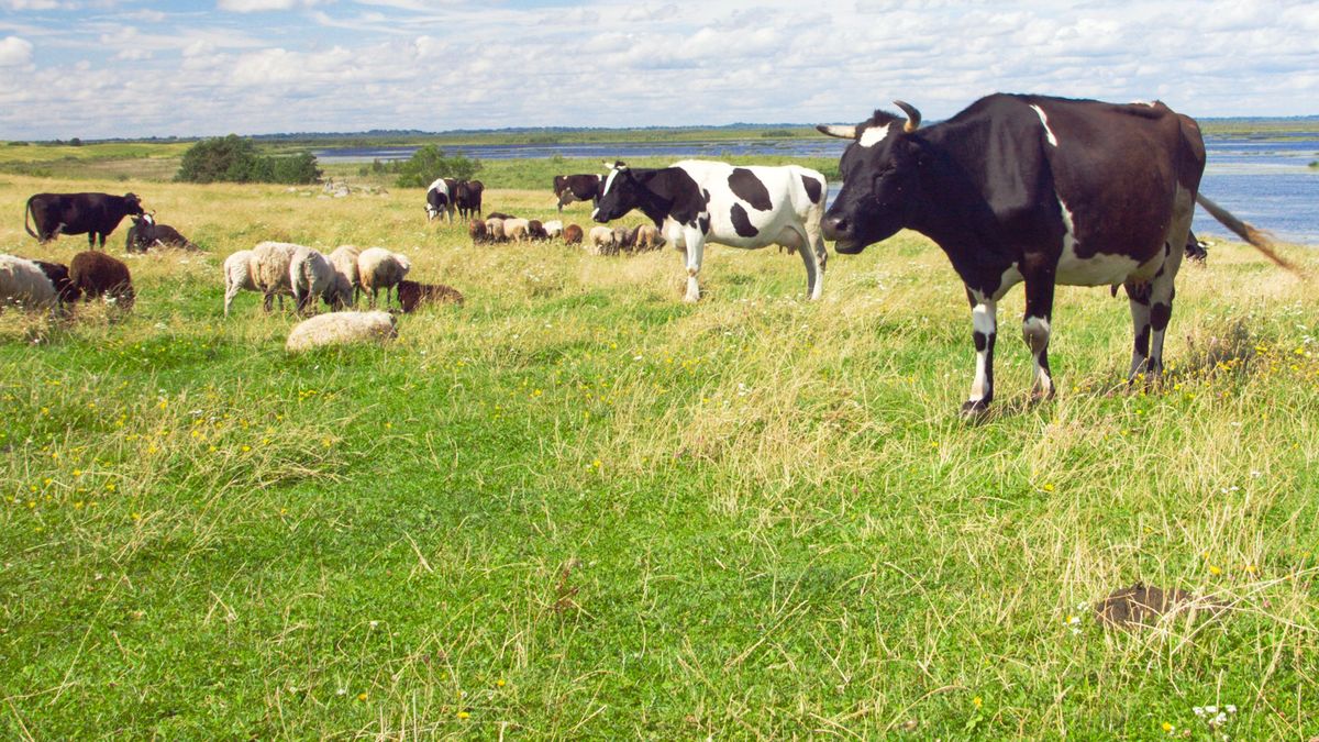
[[321, 180], [315, 154], [260, 154], [256, 143], [231, 133], [203, 139], [183, 153], [175, 181], [191, 184], [314, 184]]

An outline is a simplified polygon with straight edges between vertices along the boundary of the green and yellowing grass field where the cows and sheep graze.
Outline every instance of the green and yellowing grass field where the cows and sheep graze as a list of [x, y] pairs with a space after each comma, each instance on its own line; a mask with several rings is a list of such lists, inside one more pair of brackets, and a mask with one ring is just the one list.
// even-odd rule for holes
[[[1028, 405], [1014, 292], [966, 422], [966, 300], [915, 235], [814, 304], [797, 256], [716, 246], [685, 305], [673, 251], [474, 250], [419, 190], [7, 174], [0, 251], [83, 247], [22, 234], [42, 190], [133, 190], [210, 252], [127, 259], [128, 317], [0, 314], [4, 738], [1319, 733], [1319, 300], [1246, 247], [1184, 269], [1159, 388], [1121, 384], [1126, 301], [1064, 288]], [[220, 313], [262, 239], [467, 302], [289, 356], [291, 316]], [[1138, 580], [1225, 610], [1101, 626]]]

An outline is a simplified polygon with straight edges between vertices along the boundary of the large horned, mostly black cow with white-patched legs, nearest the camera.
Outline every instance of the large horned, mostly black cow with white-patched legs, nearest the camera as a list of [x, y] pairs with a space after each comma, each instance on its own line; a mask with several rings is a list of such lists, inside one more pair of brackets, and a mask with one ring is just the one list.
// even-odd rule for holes
[[1162, 103], [1000, 94], [926, 129], [919, 111], [896, 104], [906, 118], [876, 111], [855, 127], [816, 127], [853, 140], [823, 232], [842, 253], [901, 228], [943, 248], [966, 284], [975, 330], [966, 415], [993, 399], [996, 302], [1013, 285], [1026, 284], [1022, 331], [1034, 355], [1033, 395], [1043, 397], [1054, 392], [1057, 284], [1125, 287], [1136, 330], [1129, 379], [1154, 376], [1195, 202], [1270, 253], [1249, 226], [1198, 194], [1199, 127]]

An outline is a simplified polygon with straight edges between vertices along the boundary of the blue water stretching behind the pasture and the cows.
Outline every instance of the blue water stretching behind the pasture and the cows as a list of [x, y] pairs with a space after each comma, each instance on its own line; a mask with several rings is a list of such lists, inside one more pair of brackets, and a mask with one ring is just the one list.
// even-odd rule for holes
[[[1319, 246], [1319, 139], [1311, 133], [1273, 135], [1268, 140], [1207, 136], [1208, 165], [1200, 193], [1281, 240]], [[481, 144], [445, 147], [448, 154], [476, 160], [590, 158], [599, 161], [662, 157], [718, 160], [731, 154], [840, 157], [847, 143], [824, 136], [801, 140], [740, 140], [617, 144]], [[323, 162], [406, 160], [415, 147], [319, 149]], [[838, 193], [831, 184], [830, 197]], [[1196, 209], [1194, 228], [1202, 236], [1231, 238], [1221, 224]]]

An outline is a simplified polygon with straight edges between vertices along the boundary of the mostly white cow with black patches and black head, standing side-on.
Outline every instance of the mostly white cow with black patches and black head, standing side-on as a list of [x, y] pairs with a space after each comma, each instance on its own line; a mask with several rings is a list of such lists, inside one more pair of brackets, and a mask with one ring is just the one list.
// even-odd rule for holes
[[604, 223], [633, 209], [649, 217], [670, 244], [687, 251], [687, 301], [700, 298], [696, 275], [707, 242], [795, 250], [806, 264], [806, 293], [819, 298], [827, 194], [824, 176], [797, 165], [737, 168], [683, 160], [669, 168], [628, 168], [615, 162], [591, 217]]

